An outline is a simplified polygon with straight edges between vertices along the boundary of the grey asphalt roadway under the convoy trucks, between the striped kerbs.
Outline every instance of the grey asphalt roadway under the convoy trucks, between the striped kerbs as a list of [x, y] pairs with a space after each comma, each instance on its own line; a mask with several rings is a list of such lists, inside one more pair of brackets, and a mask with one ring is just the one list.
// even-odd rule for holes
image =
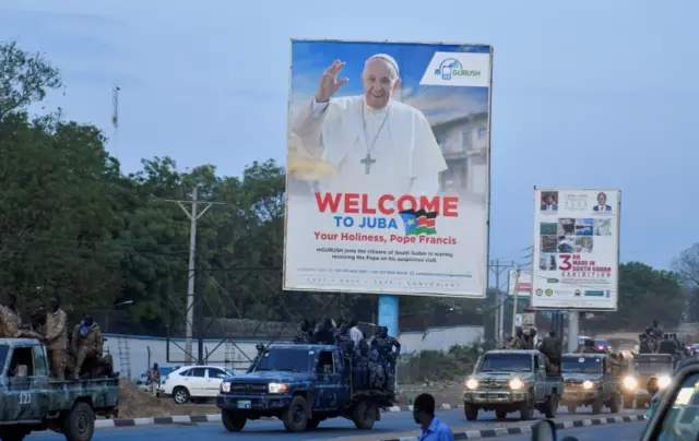
[[[579, 409], [579, 416], [590, 416], [590, 410]], [[607, 416], [608, 414], [602, 414]], [[623, 415], [623, 414], [619, 414]], [[481, 413], [477, 421], [466, 421], [464, 419], [462, 409], [454, 410], [440, 410], [437, 416], [449, 426], [466, 427], [466, 426], [488, 426], [503, 422], [519, 421], [516, 417], [517, 414], [512, 414], [511, 418], [507, 420], [496, 420], [494, 413]], [[566, 409], [559, 409], [559, 416], [566, 415]], [[584, 418], [584, 417], [583, 417]], [[340, 437], [358, 437], [370, 434], [376, 438], [386, 438], [387, 433], [391, 432], [407, 432], [416, 430], [415, 421], [413, 420], [412, 413], [386, 413], [381, 416], [381, 421], [377, 422], [374, 430], [370, 432], [356, 430], [354, 424], [344, 418], [329, 419], [320, 424], [320, 427], [313, 431], [303, 433], [287, 433], [284, 430], [282, 421], [248, 421], [245, 430], [241, 433], [229, 433], [223, 426], [217, 424], [202, 424], [202, 425], [173, 425], [173, 426], [143, 426], [133, 428], [121, 429], [100, 429], [95, 432], [95, 441], [121, 441], [125, 437], [129, 438], [129, 441], [153, 441], [154, 439], [167, 439], [168, 441], [191, 441], [192, 439], [206, 439], [208, 441], [223, 441], [228, 440], [230, 437], [237, 438], [250, 438], [257, 440], [274, 440], [280, 441], [277, 438], [281, 436], [284, 440], [300, 441], [300, 440], [328, 440]], [[62, 436], [52, 432], [38, 432], [32, 434], [31, 438], [45, 439], [51, 441], [64, 439]], [[581, 440], [582, 441], [582, 440]], [[618, 440], [615, 440], [618, 441]]]

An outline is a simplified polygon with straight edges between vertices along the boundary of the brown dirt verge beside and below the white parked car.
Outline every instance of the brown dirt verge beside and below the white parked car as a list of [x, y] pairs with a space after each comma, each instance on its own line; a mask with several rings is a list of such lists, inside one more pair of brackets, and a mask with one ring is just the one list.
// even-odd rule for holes
[[169, 417], [175, 415], [213, 415], [218, 408], [212, 405], [188, 404], [179, 406], [170, 397], [156, 398], [131, 384], [119, 386], [119, 418]]

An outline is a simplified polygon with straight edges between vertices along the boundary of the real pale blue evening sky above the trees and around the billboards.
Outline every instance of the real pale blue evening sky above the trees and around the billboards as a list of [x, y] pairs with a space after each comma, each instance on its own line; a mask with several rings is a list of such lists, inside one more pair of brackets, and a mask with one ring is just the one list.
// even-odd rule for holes
[[490, 257], [531, 261], [534, 186], [618, 188], [621, 260], [670, 269], [699, 241], [697, 16], [696, 0], [3, 0], [0, 39], [61, 69], [45, 105], [102, 128], [126, 171], [167, 155], [225, 175], [284, 163], [292, 37], [493, 45]]

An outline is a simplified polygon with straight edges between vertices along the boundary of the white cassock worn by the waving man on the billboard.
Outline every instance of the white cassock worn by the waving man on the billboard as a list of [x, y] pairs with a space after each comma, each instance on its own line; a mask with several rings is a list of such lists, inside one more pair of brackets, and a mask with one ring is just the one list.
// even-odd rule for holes
[[313, 98], [293, 130], [311, 156], [335, 167], [325, 191], [433, 195], [447, 169], [423, 112], [396, 100], [374, 110], [364, 96]]

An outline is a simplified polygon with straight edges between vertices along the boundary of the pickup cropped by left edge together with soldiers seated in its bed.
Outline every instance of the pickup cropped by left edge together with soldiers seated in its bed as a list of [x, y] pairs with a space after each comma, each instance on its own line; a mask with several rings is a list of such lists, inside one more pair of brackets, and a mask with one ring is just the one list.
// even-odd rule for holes
[[68, 333], [60, 299], [31, 314], [24, 324], [16, 297], [0, 305], [0, 438], [22, 441], [52, 430], [69, 441], [90, 441], [97, 416], [119, 413], [119, 374], [103, 356], [99, 326], [85, 317]]

